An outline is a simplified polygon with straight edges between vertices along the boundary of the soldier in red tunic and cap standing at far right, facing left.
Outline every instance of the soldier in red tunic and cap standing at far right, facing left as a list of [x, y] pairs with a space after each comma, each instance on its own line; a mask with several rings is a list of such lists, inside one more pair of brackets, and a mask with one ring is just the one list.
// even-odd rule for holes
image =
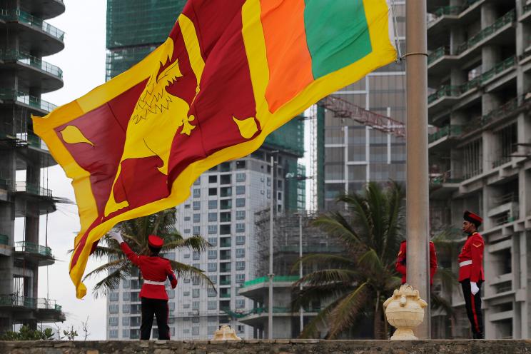
[[465, 297], [465, 306], [472, 328], [472, 338], [483, 339], [483, 315], [481, 312], [481, 284], [485, 281], [483, 272], [483, 249], [485, 241], [477, 232], [483, 219], [475, 213], [465, 211], [462, 231], [468, 238], [459, 254], [459, 282]]

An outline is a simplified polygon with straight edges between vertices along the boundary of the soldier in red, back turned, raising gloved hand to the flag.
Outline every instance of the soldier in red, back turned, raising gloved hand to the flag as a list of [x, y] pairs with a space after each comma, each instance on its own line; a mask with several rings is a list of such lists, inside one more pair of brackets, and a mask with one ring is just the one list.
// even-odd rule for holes
[[143, 285], [140, 290], [142, 304], [142, 324], [140, 326], [140, 339], [148, 340], [153, 326], [153, 315], [156, 315], [158, 326], [158, 339], [170, 339], [168, 327], [168, 294], [164, 283], [170, 280], [171, 288], [176, 288], [177, 278], [171, 269], [171, 263], [166, 258], [158, 256], [164, 244], [162, 238], [154, 235], [148, 237], [149, 256], [138, 256], [123, 241], [120, 233], [111, 232], [109, 236], [118, 241], [123, 253], [129, 261], [140, 268]]

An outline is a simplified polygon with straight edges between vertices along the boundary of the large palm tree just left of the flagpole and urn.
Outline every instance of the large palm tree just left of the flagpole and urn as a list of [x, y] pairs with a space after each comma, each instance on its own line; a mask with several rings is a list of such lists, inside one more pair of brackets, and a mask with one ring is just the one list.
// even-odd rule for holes
[[[391, 181], [385, 188], [370, 182], [362, 191], [340, 196], [346, 212], [330, 212], [314, 221], [343, 244], [343, 256], [308, 255], [299, 260], [317, 269], [293, 285], [293, 308], [315, 300], [328, 303], [305, 326], [301, 337], [313, 337], [328, 325], [326, 338], [353, 328], [368, 315], [373, 317], [375, 338], [385, 338], [387, 322], [383, 302], [400, 285], [395, 272], [396, 253], [404, 232], [403, 186]], [[298, 267], [298, 264], [294, 268]], [[303, 290], [295, 290], [299, 285]]]

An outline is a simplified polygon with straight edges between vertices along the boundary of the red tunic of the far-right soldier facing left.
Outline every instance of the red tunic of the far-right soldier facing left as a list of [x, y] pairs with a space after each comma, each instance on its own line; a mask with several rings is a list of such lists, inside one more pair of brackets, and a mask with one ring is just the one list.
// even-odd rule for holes
[[468, 236], [458, 257], [460, 263], [459, 281], [470, 278], [471, 282], [477, 283], [478, 280], [485, 280], [483, 249], [485, 249], [485, 241], [479, 233], [475, 232]]

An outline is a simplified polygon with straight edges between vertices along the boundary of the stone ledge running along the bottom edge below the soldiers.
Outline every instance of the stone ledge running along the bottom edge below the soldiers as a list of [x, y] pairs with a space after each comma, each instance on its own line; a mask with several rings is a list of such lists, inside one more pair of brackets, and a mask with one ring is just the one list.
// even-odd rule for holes
[[531, 354], [531, 340], [151, 340], [1, 342], [1, 354]]

